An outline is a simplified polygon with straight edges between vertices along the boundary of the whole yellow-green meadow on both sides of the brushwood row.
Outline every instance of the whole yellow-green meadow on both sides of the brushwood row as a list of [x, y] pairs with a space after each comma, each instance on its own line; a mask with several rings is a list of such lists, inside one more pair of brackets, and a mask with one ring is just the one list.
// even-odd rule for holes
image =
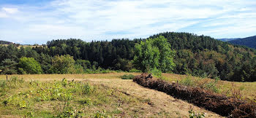
[[[188, 117], [191, 109], [220, 117], [186, 101], [132, 82], [140, 73], [0, 75], [1, 117]], [[122, 79], [123, 78], [123, 79]], [[167, 82], [215, 88], [255, 101], [256, 82], [226, 82], [162, 74]]]

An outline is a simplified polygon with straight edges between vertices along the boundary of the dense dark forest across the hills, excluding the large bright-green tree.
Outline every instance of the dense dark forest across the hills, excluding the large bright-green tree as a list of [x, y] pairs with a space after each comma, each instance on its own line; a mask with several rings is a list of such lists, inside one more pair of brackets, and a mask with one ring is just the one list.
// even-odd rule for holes
[[[136, 66], [136, 45], [150, 44], [149, 41], [161, 36], [167, 39], [173, 55], [173, 68], [163, 72], [219, 77], [228, 81], [256, 81], [255, 50], [210, 36], [175, 32], [157, 34], [148, 39], [113, 39], [110, 42], [57, 39], [43, 47], [18, 49], [13, 44], [0, 46], [0, 71], [1, 74], [86, 73], [103, 69], [145, 71]], [[152, 41], [152, 44], [157, 45], [157, 42]], [[159, 55], [161, 58], [162, 54]]]

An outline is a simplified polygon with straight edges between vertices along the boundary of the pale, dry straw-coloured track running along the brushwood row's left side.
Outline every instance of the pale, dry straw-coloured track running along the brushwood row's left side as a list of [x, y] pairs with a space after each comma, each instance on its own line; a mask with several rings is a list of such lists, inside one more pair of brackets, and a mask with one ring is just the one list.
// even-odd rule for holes
[[108, 87], [116, 87], [121, 90], [122, 93], [127, 95], [136, 96], [139, 98], [150, 99], [149, 106], [140, 106], [142, 110], [150, 114], [170, 114], [172, 117], [188, 117], [188, 111], [193, 109], [195, 112], [206, 113], [206, 117], [220, 117], [218, 114], [214, 114], [211, 111], [206, 111], [197, 106], [187, 103], [185, 101], [177, 100], [166, 93], [159, 92], [157, 90], [151, 90], [146, 87], [141, 87], [140, 85], [132, 82], [132, 80], [123, 79], [85, 79], [84, 81], [89, 81], [94, 84], [104, 84]]

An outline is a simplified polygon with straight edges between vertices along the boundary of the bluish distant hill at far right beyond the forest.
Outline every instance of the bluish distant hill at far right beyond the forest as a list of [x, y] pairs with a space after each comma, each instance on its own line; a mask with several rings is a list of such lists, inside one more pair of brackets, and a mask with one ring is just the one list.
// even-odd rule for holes
[[256, 36], [250, 36], [250, 37], [236, 39], [228, 42], [230, 42], [231, 44], [244, 45], [246, 47], [252, 47], [256, 49]]

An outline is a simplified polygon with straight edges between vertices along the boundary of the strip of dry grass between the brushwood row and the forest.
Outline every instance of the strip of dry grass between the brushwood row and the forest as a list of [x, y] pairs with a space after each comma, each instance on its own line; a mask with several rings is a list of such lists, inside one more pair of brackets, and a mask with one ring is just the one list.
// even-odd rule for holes
[[194, 87], [203, 87], [229, 97], [247, 99], [256, 102], [256, 82], [227, 82], [221, 79], [208, 79], [179, 74], [162, 74], [167, 82], [177, 82]]

